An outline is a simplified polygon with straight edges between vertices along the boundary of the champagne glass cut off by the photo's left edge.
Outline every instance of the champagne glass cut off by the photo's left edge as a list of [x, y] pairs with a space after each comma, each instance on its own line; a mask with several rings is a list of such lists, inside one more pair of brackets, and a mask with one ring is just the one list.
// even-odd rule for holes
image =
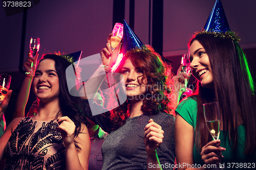
[[0, 104], [5, 100], [10, 84], [11, 76], [7, 74], [0, 74]]

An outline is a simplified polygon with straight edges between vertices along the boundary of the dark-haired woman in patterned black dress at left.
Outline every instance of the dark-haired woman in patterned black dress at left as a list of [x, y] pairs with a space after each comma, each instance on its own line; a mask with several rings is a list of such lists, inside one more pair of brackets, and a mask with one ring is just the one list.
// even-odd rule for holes
[[54, 54], [40, 60], [32, 82], [40, 101], [37, 114], [13, 119], [0, 138], [7, 169], [88, 169], [90, 138], [80, 99], [69, 94], [70, 64]]

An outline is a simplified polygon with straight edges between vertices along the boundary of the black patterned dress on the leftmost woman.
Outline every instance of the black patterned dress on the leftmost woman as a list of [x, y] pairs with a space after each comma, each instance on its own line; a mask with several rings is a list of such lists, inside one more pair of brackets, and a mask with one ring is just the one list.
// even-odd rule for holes
[[66, 149], [57, 127], [57, 120], [20, 120], [7, 143], [7, 169], [65, 169]]

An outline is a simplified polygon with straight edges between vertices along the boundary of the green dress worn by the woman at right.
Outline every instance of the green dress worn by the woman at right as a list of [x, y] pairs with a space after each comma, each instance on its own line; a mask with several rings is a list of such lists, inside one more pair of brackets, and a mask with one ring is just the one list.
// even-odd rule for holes
[[[193, 126], [194, 131], [196, 132], [196, 122], [197, 122], [197, 101], [196, 98], [187, 98], [183, 100], [177, 107], [176, 113], [180, 114], [186, 122]], [[207, 127], [205, 127], [207, 129]], [[194, 133], [195, 136], [195, 133]], [[224, 156], [222, 160], [222, 164], [228, 167], [243, 167], [250, 165], [251, 168], [256, 167], [256, 154], [254, 155], [245, 155], [244, 152], [244, 143], [245, 143], [245, 126], [242, 124], [238, 127], [238, 147], [237, 151], [233, 151], [228, 139], [228, 134], [225, 138], [223, 135], [223, 131], [220, 132], [220, 140], [221, 140], [221, 147], [226, 148], [225, 151], [222, 152]], [[198, 153], [196, 149], [196, 144], [194, 143], [193, 149], [193, 158], [194, 163], [203, 165], [204, 162], [202, 161], [200, 153]], [[241, 163], [241, 164], [240, 164]], [[250, 164], [249, 164], [250, 163]], [[248, 167], [247, 167], [248, 168]]]

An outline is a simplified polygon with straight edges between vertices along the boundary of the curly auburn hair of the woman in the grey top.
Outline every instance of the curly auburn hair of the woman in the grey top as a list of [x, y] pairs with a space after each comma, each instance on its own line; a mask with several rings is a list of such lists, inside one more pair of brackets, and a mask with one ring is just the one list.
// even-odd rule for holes
[[[143, 113], [146, 115], [156, 115], [159, 112], [170, 113], [174, 109], [170, 98], [172, 94], [171, 87], [173, 87], [171, 66], [164, 63], [160, 55], [155, 52], [136, 52], [126, 53], [117, 70], [120, 71], [127, 59], [130, 59], [136, 68], [143, 70], [143, 75], [139, 76], [138, 79], [141, 77], [142, 82], [144, 80], [147, 82], [145, 84], [145, 98], [141, 106]], [[114, 129], [124, 125], [129, 115], [130, 100], [127, 99], [126, 102], [111, 111], [110, 118]]]

